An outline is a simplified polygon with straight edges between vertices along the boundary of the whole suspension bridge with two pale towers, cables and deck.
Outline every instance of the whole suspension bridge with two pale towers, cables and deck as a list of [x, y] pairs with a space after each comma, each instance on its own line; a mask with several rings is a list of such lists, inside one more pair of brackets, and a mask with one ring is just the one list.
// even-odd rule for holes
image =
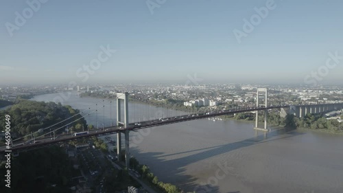
[[[261, 96], [261, 93], [263, 94]], [[116, 102], [115, 102], [116, 100]], [[261, 105], [259, 102], [263, 101]], [[102, 103], [102, 104], [101, 104]], [[113, 106], [116, 104], [116, 113], [112, 113]], [[105, 107], [108, 106], [110, 119], [105, 119]], [[256, 113], [256, 122], [255, 122], [255, 131], [258, 134], [259, 131], [262, 131], [267, 136], [267, 133], [270, 132], [268, 128], [268, 110], [270, 109], [289, 109], [290, 113], [293, 113], [296, 117], [304, 117], [307, 113], [324, 113], [327, 111], [340, 110], [343, 108], [343, 103], [334, 103], [334, 104], [303, 104], [303, 105], [289, 105], [289, 104], [268, 104], [268, 89], [257, 89], [257, 104], [255, 107], [235, 107], [233, 109], [217, 110], [217, 111], [198, 111], [198, 112], [189, 112], [189, 113], [176, 113], [174, 111], [169, 111], [165, 113], [160, 110], [156, 110], [152, 106], [149, 106], [145, 109], [139, 108], [139, 104], [131, 102], [129, 105], [129, 93], [117, 93], [117, 98], [110, 101], [102, 100], [99, 104], [94, 104], [93, 106], [88, 107], [80, 113], [68, 117], [61, 122], [58, 122], [54, 125], [42, 128], [31, 135], [26, 135], [13, 139], [11, 141], [10, 148], [5, 144], [0, 146], [1, 152], [6, 152], [8, 150], [19, 152], [25, 150], [32, 150], [35, 148], [40, 148], [43, 146], [49, 146], [51, 144], [59, 144], [66, 141], [71, 141], [74, 139], [81, 139], [84, 137], [93, 137], [97, 135], [108, 135], [108, 134], [117, 134], [117, 154], [121, 154], [121, 135], [124, 135], [125, 139], [125, 152], [126, 158], [130, 157], [130, 146], [129, 146], [129, 133], [131, 131], [151, 128], [156, 126], [162, 126], [166, 124], [176, 124], [179, 122], [188, 122], [192, 120], [200, 120], [210, 117], [217, 117], [221, 115], [231, 115], [235, 113], [246, 113], [252, 112]], [[99, 128], [98, 113], [103, 111], [102, 127]], [[132, 111], [132, 112], [131, 112]], [[156, 113], [156, 111], [158, 111]], [[263, 128], [259, 127], [259, 112], [264, 112], [264, 126]], [[130, 113], [129, 113], [130, 112]], [[116, 114], [116, 119], [113, 118], [113, 114]], [[75, 119], [77, 115], [81, 115], [78, 119]], [[80, 133], [70, 133], [62, 134], [62, 131], [66, 127], [70, 126], [74, 122], [87, 117], [95, 115], [96, 118], [96, 127], [89, 130], [86, 128], [86, 131]], [[129, 115], [134, 117], [131, 122], [129, 122]], [[73, 120], [74, 118], [74, 120]], [[73, 120], [73, 121], [71, 121]], [[64, 123], [65, 122], [65, 123]], [[64, 124], [63, 124], [64, 123]], [[60, 126], [62, 125], [62, 126]], [[29, 139], [31, 137], [31, 139]], [[120, 161], [120, 157], [119, 161]], [[126, 159], [126, 165], [129, 164], [129, 159]]]

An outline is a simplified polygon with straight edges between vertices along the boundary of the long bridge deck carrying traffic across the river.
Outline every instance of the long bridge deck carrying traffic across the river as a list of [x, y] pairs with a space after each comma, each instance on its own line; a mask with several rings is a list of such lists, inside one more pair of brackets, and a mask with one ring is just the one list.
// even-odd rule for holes
[[[305, 106], [305, 105], [298, 105], [298, 106]], [[85, 137], [92, 137], [96, 135], [104, 135], [104, 134], [111, 134], [111, 133], [118, 133], [123, 132], [125, 130], [139, 130], [142, 128], [151, 128], [154, 126], [161, 126], [166, 124], [176, 124], [178, 122], [188, 122], [192, 120], [200, 120], [205, 119], [209, 117], [217, 117], [220, 115], [230, 115], [233, 113], [244, 113], [248, 111], [264, 111], [266, 109], [281, 109], [281, 108], [289, 108], [289, 105], [281, 105], [281, 106], [268, 106], [268, 107], [252, 107], [252, 108], [242, 108], [242, 109], [230, 109], [226, 111], [220, 111], [220, 112], [206, 112], [206, 113], [196, 113], [196, 114], [190, 114], [190, 115], [181, 115], [176, 117], [168, 117], [163, 118], [163, 120], [150, 120], [145, 122], [137, 122], [137, 123], [131, 123], [126, 128], [122, 128], [122, 126], [109, 126], [104, 129], [93, 129], [88, 132], [86, 135], [78, 135], [78, 136], [71, 136], [71, 135], [58, 135], [55, 139], [52, 139], [51, 137], [45, 137], [45, 138], [36, 138], [35, 143], [27, 144], [27, 141], [19, 141], [17, 143], [14, 143], [12, 147], [9, 150], [15, 151], [15, 150], [29, 150], [32, 148], [39, 148], [41, 146], [47, 146], [51, 144], [57, 144], [59, 142], [63, 141], [70, 141], [73, 139], [81, 139]], [[31, 140], [31, 139], [30, 139]], [[3, 152], [6, 150], [6, 146], [0, 147], [0, 152]]]

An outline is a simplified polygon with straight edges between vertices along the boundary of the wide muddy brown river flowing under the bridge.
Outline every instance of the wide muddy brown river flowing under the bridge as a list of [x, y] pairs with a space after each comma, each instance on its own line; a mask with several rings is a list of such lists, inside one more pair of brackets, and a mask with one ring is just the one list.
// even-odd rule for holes
[[[32, 100], [55, 101], [60, 95], [66, 94], [37, 95]], [[107, 105], [115, 101], [79, 98], [76, 93], [64, 98], [62, 104], [84, 115], [106, 104], [85, 117], [88, 124], [115, 122], [116, 105]], [[129, 104], [129, 109], [130, 122], [182, 114], [145, 104]], [[252, 126], [235, 120], [196, 120], [146, 128], [130, 133], [130, 153], [150, 166], [159, 180], [189, 192], [343, 192], [342, 135], [274, 128], [263, 139], [255, 137]]]

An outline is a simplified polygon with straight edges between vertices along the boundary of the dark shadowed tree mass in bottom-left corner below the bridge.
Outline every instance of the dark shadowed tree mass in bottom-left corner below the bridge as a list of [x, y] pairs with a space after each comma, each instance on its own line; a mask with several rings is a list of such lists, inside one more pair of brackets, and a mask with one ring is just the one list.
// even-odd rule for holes
[[[73, 165], [62, 148], [50, 146], [21, 152], [12, 158], [11, 166], [11, 182], [20, 184], [11, 186], [12, 192], [71, 192], [68, 179], [73, 177]], [[0, 164], [0, 172], [5, 172], [4, 165]], [[54, 190], [50, 183], [56, 183]]]

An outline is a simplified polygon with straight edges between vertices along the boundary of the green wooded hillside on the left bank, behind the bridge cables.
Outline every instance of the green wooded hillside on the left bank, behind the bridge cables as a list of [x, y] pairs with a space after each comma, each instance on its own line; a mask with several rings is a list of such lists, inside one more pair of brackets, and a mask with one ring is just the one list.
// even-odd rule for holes
[[[51, 127], [51, 130], [70, 123], [69, 130], [71, 130], [71, 132], [81, 131], [82, 125], [84, 127], [87, 125], [86, 120], [84, 120], [79, 113], [80, 111], [78, 109], [73, 109], [69, 105], [62, 106], [60, 103], [18, 100], [16, 101], [16, 104], [13, 104], [10, 108], [0, 111], [0, 120], [5, 120], [5, 115], [11, 116], [11, 134], [13, 139], [30, 135], [31, 133], [34, 133], [35, 137], [38, 137], [43, 133], [35, 133], [36, 131], [57, 124], [74, 115], [73, 118], [66, 122]], [[5, 122], [0, 122], [0, 128], [5, 128]], [[45, 130], [42, 132], [49, 131], [50, 130]], [[56, 134], [63, 132], [64, 128]]]

